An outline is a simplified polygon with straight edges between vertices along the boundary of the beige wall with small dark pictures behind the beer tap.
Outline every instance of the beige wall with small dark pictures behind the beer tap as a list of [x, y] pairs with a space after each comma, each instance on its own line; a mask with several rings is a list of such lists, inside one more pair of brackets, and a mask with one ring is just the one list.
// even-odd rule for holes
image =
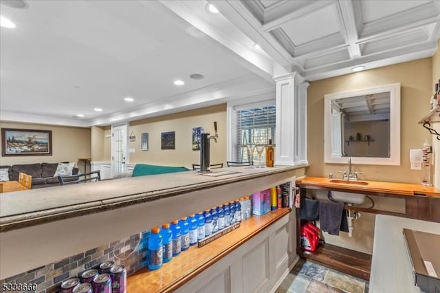
[[[181, 113], [148, 118], [130, 123], [130, 133], [136, 141], [129, 143], [130, 163], [162, 164], [169, 166], [191, 166], [199, 164], [200, 151], [192, 151], [192, 128], [203, 127], [204, 132], [214, 133], [213, 122], [217, 121], [218, 142], [211, 140], [211, 164], [226, 164], [226, 105], [217, 105]], [[161, 133], [175, 131], [175, 150], [161, 149]], [[148, 133], [148, 151], [141, 151], [141, 133]]]

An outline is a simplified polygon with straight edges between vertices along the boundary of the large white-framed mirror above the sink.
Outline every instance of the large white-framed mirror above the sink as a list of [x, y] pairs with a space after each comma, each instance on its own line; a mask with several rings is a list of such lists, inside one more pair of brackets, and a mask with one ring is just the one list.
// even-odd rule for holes
[[324, 96], [324, 162], [400, 165], [400, 83]]

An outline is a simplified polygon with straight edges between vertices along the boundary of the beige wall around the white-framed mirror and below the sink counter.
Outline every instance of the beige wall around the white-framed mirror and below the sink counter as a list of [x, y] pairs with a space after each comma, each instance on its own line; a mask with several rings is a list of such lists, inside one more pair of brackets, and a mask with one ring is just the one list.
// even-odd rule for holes
[[[347, 165], [324, 163], [325, 94], [401, 83], [401, 165], [354, 165], [353, 171], [364, 172], [365, 180], [418, 183], [421, 171], [410, 170], [409, 150], [421, 149], [425, 140], [430, 141], [428, 131], [417, 122], [429, 111], [434, 70], [432, 66], [432, 58], [423, 58], [311, 82], [307, 91], [307, 158], [310, 164], [307, 175], [327, 177], [329, 173], [338, 174], [338, 171], [348, 170]], [[404, 211], [401, 199], [373, 197], [373, 200], [375, 208], [400, 213]], [[369, 204], [368, 199], [365, 204]], [[353, 237], [347, 237], [347, 233], [342, 232], [339, 237], [324, 235], [325, 241], [371, 254], [374, 224], [375, 215], [362, 213], [362, 217], [354, 221]]]

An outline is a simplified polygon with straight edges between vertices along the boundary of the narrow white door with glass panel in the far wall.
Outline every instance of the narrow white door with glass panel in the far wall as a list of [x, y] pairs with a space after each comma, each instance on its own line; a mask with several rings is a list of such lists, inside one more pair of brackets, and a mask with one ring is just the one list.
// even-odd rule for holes
[[111, 126], [112, 175], [126, 172], [128, 124]]

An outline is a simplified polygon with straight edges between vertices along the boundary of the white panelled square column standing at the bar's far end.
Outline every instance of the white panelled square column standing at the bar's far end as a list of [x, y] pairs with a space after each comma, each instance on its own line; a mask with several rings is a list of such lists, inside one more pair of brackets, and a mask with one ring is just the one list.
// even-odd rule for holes
[[307, 87], [296, 72], [276, 81], [275, 164], [307, 164]]

